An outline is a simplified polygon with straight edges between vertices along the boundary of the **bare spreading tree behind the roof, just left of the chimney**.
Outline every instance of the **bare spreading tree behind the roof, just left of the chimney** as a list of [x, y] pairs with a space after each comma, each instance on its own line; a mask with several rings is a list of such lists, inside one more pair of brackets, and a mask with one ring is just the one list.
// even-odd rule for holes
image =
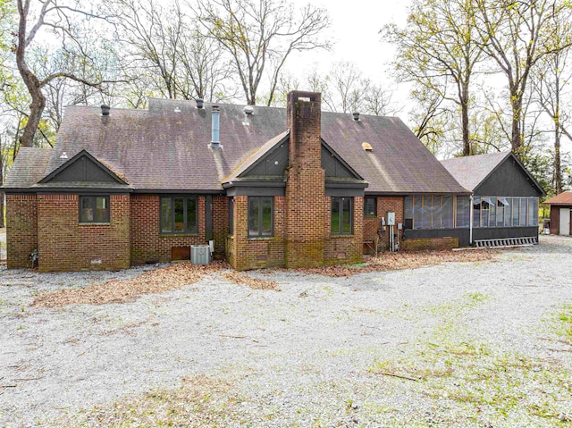
[[329, 48], [320, 38], [329, 26], [324, 9], [307, 4], [299, 13], [284, 0], [198, 0], [198, 20], [206, 35], [231, 55], [248, 105], [269, 75], [267, 105], [272, 105], [280, 74], [292, 52]]

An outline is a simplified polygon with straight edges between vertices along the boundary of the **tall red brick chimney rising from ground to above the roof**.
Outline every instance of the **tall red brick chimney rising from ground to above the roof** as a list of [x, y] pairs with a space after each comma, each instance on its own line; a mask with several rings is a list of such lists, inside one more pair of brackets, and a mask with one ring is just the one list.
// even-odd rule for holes
[[288, 94], [290, 165], [286, 182], [286, 266], [324, 264], [325, 173], [321, 162], [321, 95]]

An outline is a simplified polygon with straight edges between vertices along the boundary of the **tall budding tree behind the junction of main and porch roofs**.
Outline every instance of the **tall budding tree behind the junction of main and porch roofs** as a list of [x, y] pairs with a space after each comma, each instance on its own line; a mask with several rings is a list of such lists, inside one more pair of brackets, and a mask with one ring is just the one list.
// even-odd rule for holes
[[[400, 80], [436, 92], [431, 99], [443, 98], [458, 105], [464, 156], [473, 155], [469, 138], [470, 89], [475, 67], [483, 57], [475, 42], [475, 12], [473, 0], [415, 0], [407, 27], [390, 24], [382, 30], [383, 36], [397, 46], [394, 66]], [[450, 80], [452, 85], [443, 85], [443, 80]], [[453, 90], [440, 93], [442, 88]]]

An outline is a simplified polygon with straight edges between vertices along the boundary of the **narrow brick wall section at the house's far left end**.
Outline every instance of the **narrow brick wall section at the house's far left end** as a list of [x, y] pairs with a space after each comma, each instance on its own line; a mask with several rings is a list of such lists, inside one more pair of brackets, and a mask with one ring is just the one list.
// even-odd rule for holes
[[29, 254], [38, 249], [36, 195], [6, 195], [7, 267], [30, 267]]

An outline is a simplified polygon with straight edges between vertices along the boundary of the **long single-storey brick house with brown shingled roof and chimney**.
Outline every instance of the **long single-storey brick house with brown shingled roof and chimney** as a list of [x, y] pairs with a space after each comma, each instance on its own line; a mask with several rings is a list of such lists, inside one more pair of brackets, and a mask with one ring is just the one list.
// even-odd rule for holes
[[[4, 191], [8, 267], [38, 249], [41, 272], [184, 259], [209, 241], [239, 270], [457, 247], [445, 230], [470, 195], [398, 118], [322, 112], [300, 91], [286, 109], [67, 107], [55, 147], [22, 147]], [[450, 221], [403, 242], [407, 198], [424, 195]]]

